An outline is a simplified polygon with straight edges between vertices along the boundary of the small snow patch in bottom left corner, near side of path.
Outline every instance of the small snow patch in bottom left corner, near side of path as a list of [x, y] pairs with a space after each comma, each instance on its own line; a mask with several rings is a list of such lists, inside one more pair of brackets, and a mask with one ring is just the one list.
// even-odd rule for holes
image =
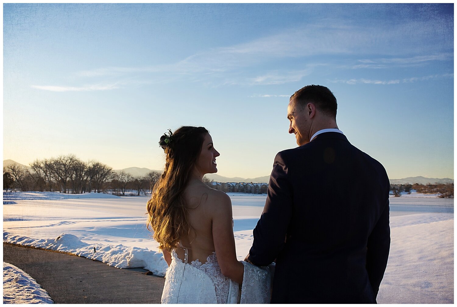
[[12, 264], [3, 263], [4, 304], [53, 304], [48, 292], [30, 275]]

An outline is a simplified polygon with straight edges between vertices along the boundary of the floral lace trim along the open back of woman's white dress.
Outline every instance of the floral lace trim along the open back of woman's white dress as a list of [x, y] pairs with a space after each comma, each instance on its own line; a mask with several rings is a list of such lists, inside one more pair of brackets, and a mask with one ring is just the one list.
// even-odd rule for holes
[[[171, 254], [176, 259], [179, 259], [178, 254], [174, 250]], [[206, 260], [207, 261], [202, 264], [198, 259], [196, 259], [189, 265], [196, 269], [202, 270], [213, 281], [218, 304], [226, 304], [228, 299], [228, 288], [230, 287], [230, 280], [222, 275], [222, 271], [219, 267], [218, 259], [216, 257], [216, 252], [213, 252], [213, 254], [209, 255]]]

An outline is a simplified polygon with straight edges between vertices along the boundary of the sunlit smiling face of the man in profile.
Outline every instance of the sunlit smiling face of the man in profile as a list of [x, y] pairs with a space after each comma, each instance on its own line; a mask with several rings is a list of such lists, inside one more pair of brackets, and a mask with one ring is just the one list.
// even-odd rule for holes
[[287, 106], [287, 118], [290, 121], [289, 133], [295, 134], [297, 145], [302, 146], [308, 143], [310, 121], [306, 116], [305, 109], [291, 100]]

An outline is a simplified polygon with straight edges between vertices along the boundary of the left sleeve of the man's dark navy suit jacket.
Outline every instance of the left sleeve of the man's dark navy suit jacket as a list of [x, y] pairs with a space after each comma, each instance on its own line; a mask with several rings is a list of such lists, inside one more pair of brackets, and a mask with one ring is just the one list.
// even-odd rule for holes
[[271, 264], [284, 248], [287, 228], [292, 216], [292, 183], [282, 153], [278, 153], [273, 164], [268, 196], [260, 220], [255, 226], [254, 242], [249, 251], [253, 264]]

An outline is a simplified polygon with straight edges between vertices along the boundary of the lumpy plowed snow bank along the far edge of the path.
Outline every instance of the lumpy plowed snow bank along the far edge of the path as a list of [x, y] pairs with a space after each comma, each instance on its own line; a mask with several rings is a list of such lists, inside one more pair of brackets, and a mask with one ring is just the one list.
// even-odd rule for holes
[[62, 233], [55, 239], [32, 239], [3, 232], [3, 242], [72, 253], [118, 269], [144, 268], [158, 276], [165, 276], [168, 268], [162, 253], [121, 244], [88, 244], [68, 233]]

